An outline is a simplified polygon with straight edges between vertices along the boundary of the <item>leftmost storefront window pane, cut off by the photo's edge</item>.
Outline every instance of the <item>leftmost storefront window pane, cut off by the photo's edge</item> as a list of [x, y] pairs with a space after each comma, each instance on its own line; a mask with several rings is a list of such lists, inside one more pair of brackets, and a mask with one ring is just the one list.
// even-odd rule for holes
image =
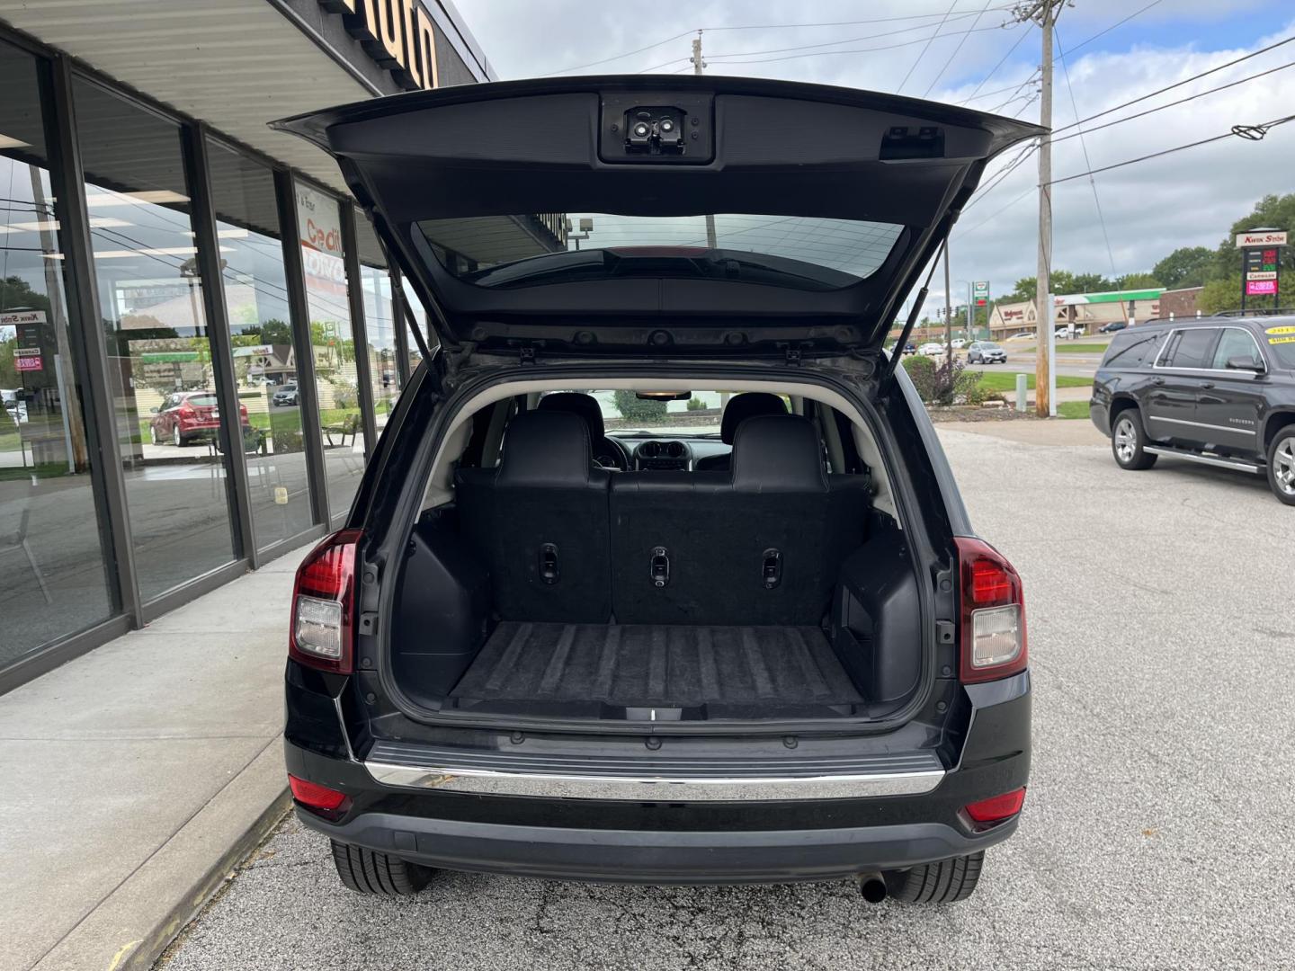
[[0, 41], [0, 667], [113, 612], [41, 104]]

